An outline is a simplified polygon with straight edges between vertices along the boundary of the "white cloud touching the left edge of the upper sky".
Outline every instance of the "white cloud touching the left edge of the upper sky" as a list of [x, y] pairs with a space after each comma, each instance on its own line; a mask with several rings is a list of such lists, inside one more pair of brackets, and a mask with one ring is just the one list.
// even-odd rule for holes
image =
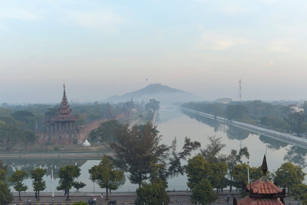
[[37, 21], [39, 17], [27, 10], [19, 8], [1, 8], [0, 19], [15, 19], [20, 21]]

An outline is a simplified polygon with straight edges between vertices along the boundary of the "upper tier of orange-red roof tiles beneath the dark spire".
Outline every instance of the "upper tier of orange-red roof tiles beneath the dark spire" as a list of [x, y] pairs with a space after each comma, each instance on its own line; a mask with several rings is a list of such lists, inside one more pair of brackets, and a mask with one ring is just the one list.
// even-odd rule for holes
[[266, 176], [262, 176], [257, 181], [251, 183], [251, 185], [246, 186], [248, 190], [250, 190], [250, 187], [253, 189], [254, 193], [258, 194], [277, 194], [282, 191]]

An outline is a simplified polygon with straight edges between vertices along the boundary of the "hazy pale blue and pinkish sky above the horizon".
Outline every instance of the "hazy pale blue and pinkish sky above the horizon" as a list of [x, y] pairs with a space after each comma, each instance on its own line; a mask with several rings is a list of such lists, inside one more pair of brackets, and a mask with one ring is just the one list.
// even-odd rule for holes
[[[0, 1], [0, 102], [161, 83], [204, 100], [306, 97], [307, 1]], [[145, 79], [148, 78], [146, 82]]]

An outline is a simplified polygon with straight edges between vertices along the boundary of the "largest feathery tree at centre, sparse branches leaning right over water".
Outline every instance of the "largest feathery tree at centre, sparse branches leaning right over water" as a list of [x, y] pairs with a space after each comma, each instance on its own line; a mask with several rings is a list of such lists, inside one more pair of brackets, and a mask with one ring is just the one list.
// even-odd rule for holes
[[[114, 143], [115, 159], [117, 167], [130, 173], [128, 178], [131, 183], [138, 183], [149, 179], [151, 170], [150, 163], [163, 164], [165, 167], [160, 174], [161, 179], [168, 179], [185, 172], [185, 165], [181, 164], [186, 160], [193, 150], [200, 148], [200, 143], [185, 137], [185, 143], [181, 152], [176, 152], [177, 140], [173, 140], [168, 147], [160, 144], [162, 135], [159, 135], [157, 126], [147, 121], [144, 125], [133, 125], [125, 123], [122, 130], [116, 129], [118, 143]], [[146, 146], [145, 146], [146, 145]], [[168, 161], [168, 162], [166, 162]]]

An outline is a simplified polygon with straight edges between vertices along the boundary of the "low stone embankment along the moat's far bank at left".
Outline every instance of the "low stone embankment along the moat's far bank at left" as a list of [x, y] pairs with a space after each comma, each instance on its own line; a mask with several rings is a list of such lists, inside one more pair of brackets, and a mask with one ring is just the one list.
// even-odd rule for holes
[[87, 153], [1, 153], [1, 159], [97, 159], [103, 155], [113, 156], [113, 152], [87, 152]]

